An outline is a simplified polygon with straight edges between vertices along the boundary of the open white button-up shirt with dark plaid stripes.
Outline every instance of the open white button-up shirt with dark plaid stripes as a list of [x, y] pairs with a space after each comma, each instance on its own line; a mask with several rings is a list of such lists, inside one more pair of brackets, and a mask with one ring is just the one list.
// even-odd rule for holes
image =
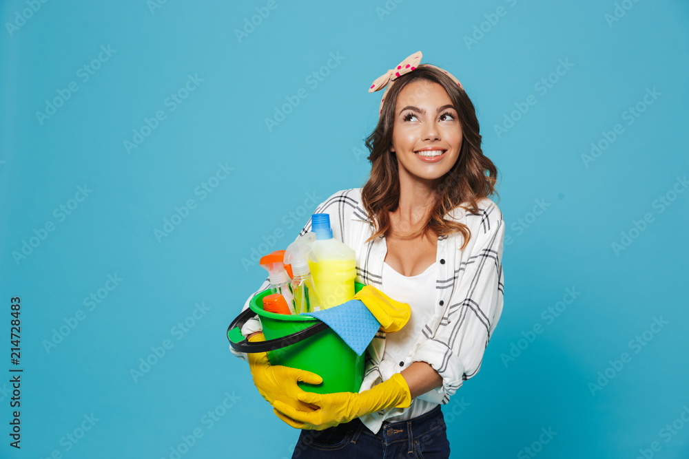
[[[361, 202], [361, 189], [338, 191], [319, 204], [313, 213], [329, 214], [333, 237], [356, 252], [356, 281], [373, 285], [382, 291], [387, 246], [384, 235], [365, 242], [371, 236], [371, 228], [369, 216]], [[383, 360], [385, 333], [376, 334], [367, 348], [360, 392], [387, 381], [395, 372], [411, 363], [422, 361], [429, 363], [440, 374], [442, 385], [418, 398], [446, 404], [462, 383], [480, 370], [491, 333], [502, 314], [504, 220], [497, 204], [489, 198], [478, 202], [478, 213], [469, 213], [457, 207], [445, 218], [465, 224], [471, 231], [471, 238], [464, 250], [460, 250], [464, 242], [461, 233], [438, 237], [435, 313], [423, 325], [403, 365]], [[299, 235], [308, 231], [311, 231], [311, 218]], [[256, 292], [268, 286], [269, 280], [266, 279]], [[249, 299], [244, 308], [249, 307]], [[253, 329], [247, 323], [243, 332], [248, 334], [260, 330], [260, 325], [256, 326], [256, 323], [258, 320], [253, 322]], [[246, 358], [246, 354], [232, 352], [240, 358]], [[361, 420], [376, 433], [385, 418], [402, 414], [403, 411], [391, 408], [362, 416]]]

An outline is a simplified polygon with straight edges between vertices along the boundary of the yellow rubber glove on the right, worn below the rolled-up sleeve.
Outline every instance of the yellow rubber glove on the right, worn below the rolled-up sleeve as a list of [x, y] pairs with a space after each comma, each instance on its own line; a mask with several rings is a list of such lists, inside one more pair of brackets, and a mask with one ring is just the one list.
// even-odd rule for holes
[[350, 420], [377, 412], [380, 409], [395, 407], [407, 408], [411, 405], [411, 393], [404, 376], [395, 373], [392, 378], [360, 394], [336, 392], [334, 394], [313, 394], [302, 392], [297, 398], [319, 407], [305, 412], [275, 401], [273, 412], [278, 418], [295, 429], [323, 430]]

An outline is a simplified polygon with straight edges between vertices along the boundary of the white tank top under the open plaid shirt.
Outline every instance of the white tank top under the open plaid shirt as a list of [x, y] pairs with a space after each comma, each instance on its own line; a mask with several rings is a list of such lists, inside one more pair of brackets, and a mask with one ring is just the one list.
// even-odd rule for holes
[[[415, 276], [404, 276], [395, 271], [389, 264], [383, 262], [381, 291], [402, 303], [411, 306], [411, 319], [402, 330], [388, 333], [385, 339], [384, 360], [392, 361], [397, 372], [401, 372], [408, 365], [404, 363], [409, 354], [409, 348], [414, 344], [423, 326], [433, 317], [435, 304], [435, 281], [438, 279], [438, 262], [436, 261], [426, 270]], [[407, 411], [398, 416], [387, 418], [391, 422], [409, 420], [420, 416], [437, 406], [415, 398]]]

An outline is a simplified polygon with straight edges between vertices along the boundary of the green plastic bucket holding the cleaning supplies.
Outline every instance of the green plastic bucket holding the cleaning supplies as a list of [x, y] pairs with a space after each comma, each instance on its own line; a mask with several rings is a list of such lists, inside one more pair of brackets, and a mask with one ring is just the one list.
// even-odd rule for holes
[[[356, 282], [354, 291], [364, 287]], [[315, 317], [276, 314], [263, 310], [259, 292], [249, 301], [249, 309], [240, 314], [227, 330], [232, 348], [238, 352], [267, 352], [271, 365], [285, 365], [318, 374], [319, 385], [298, 383], [307, 392], [359, 392], [364, 377], [364, 354], [358, 356], [336, 332]], [[253, 314], [252, 314], [253, 312]], [[249, 343], [241, 326], [258, 315], [266, 341]]]

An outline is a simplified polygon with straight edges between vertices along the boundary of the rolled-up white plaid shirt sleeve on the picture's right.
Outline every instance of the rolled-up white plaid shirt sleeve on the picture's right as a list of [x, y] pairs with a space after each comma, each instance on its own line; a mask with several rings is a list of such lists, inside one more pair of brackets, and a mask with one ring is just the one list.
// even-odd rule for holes
[[462, 383], [477, 374], [502, 314], [504, 220], [494, 203], [485, 218], [478, 234], [472, 235], [476, 242], [440, 325], [413, 356], [413, 361], [429, 363], [442, 376], [442, 386], [419, 396], [422, 400], [448, 403]]

